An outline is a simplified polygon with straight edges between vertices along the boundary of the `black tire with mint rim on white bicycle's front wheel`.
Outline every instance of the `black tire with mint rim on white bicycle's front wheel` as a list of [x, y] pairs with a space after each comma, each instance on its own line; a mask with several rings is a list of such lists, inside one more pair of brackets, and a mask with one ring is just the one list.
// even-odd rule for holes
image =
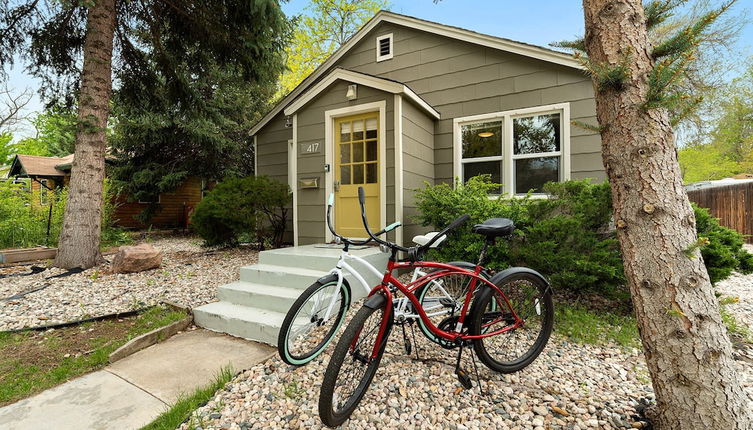
[[[322, 340], [311, 348], [305, 348], [302, 352], [292, 351], [290, 348], [291, 341], [296, 342], [297, 340], [291, 340], [290, 336], [291, 329], [293, 329], [294, 323], [296, 319], [298, 319], [298, 314], [302, 309], [304, 309], [308, 301], [312, 297], [314, 297], [317, 292], [322, 291], [327, 287], [331, 287], [332, 285], [334, 285], [335, 287], [337, 286], [336, 275], [330, 275], [327, 278], [323, 278], [314, 282], [308, 288], [306, 288], [306, 290], [293, 303], [293, 306], [291, 306], [288, 310], [288, 313], [285, 315], [285, 319], [282, 322], [282, 326], [280, 327], [280, 332], [277, 336], [277, 351], [280, 355], [280, 358], [285, 363], [291, 366], [303, 366], [309, 363], [311, 360], [321, 354], [324, 349], [327, 348], [329, 343], [332, 342], [332, 339], [340, 330], [340, 326], [345, 319], [345, 313], [350, 307], [351, 297], [350, 285], [345, 279], [343, 279], [340, 289], [337, 290], [337, 293], [340, 295], [340, 304], [337, 309], [335, 320], [332, 321], [332, 327], [327, 330], [327, 333], [323, 336]], [[313, 323], [314, 321], [311, 322]], [[306, 335], [308, 336], [308, 334]]]

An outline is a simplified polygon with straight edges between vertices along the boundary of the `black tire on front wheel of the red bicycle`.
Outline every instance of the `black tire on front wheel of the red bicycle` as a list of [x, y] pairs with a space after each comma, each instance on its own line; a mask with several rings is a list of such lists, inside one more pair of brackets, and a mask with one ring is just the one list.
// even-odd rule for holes
[[[391, 312], [390, 315], [384, 315], [387, 300], [384, 295], [380, 294], [380, 296], [382, 297], [382, 300], [378, 304], [372, 305], [371, 307], [369, 305], [364, 305], [361, 309], [359, 309], [358, 313], [350, 321], [350, 324], [348, 324], [347, 328], [343, 332], [342, 337], [340, 337], [340, 340], [337, 342], [335, 351], [332, 353], [329, 365], [327, 366], [327, 370], [324, 373], [324, 380], [322, 381], [321, 390], [319, 392], [319, 417], [321, 418], [322, 422], [328, 427], [337, 427], [350, 417], [353, 411], [358, 407], [358, 404], [361, 402], [363, 396], [366, 394], [366, 391], [371, 385], [371, 381], [374, 379], [374, 375], [379, 368], [379, 363], [382, 361], [384, 349], [387, 346], [387, 339], [389, 338], [390, 331], [392, 330], [393, 315]], [[378, 314], [378, 311], [380, 310], [382, 311], [381, 317], [379, 315], [376, 315], [377, 319], [375, 320], [375, 322], [377, 324], [375, 326], [370, 325], [364, 336], [364, 325], [369, 322], [368, 320], [370, 317]], [[374, 328], [376, 328], [378, 332], [379, 324], [381, 324], [382, 318], [384, 317], [388, 318], [389, 320], [387, 322], [387, 331], [384, 334], [382, 345], [379, 348], [379, 353], [375, 358], [368, 361], [368, 363], [364, 363], [363, 354], [370, 355], [373, 351], [373, 342], [376, 341]], [[372, 334], [374, 334], [373, 340], [370, 339]], [[363, 354], [361, 354], [361, 349], [359, 348], [361, 340], [365, 341]], [[351, 345], [353, 345], [354, 343], [354, 350], [351, 351]], [[338, 385], [338, 376], [343, 370], [343, 364], [346, 358], [349, 357], [352, 357], [349, 362], [354, 363], [354, 366], [358, 366], [357, 363], [360, 362], [362, 364], [361, 367], [365, 365], [365, 368], [363, 369], [363, 374], [360, 378], [349, 379], [351, 382], [357, 382], [358, 385], [356, 385], [353, 392], [345, 400], [343, 406], [340, 409], [336, 410], [334, 400]], [[338, 396], [338, 398], [339, 397], [340, 396]]]

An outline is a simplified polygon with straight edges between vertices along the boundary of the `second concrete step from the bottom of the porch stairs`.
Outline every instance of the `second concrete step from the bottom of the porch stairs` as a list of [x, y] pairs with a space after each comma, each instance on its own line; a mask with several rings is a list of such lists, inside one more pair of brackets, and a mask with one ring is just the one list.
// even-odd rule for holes
[[223, 302], [236, 305], [257, 307], [275, 312], [287, 312], [303, 290], [298, 288], [277, 287], [236, 281], [223, 285], [217, 290], [217, 296]]

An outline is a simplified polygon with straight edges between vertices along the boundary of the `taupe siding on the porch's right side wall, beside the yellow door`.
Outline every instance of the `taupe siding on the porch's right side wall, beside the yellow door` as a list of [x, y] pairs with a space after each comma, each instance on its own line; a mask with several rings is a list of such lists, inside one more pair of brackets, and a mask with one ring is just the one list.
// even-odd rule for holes
[[434, 119], [403, 98], [403, 242], [428, 229], [415, 222], [415, 193], [434, 183]]

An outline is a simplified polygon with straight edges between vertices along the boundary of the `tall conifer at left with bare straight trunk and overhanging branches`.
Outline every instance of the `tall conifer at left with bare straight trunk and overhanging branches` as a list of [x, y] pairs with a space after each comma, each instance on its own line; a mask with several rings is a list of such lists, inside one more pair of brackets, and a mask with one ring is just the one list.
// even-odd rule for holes
[[0, 66], [16, 55], [44, 79], [43, 95], [75, 97], [75, 163], [55, 264], [101, 260], [104, 157], [113, 66], [120, 80], [163, 82], [180, 103], [202, 98], [190, 77], [211, 64], [248, 82], [282, 68], [289, 21], [276, 0], [0, 1]]

